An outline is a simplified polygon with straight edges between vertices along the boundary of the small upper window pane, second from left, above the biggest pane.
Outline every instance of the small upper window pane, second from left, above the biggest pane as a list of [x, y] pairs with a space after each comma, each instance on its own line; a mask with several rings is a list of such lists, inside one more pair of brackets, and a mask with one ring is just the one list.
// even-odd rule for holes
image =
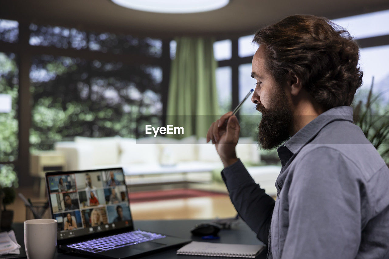
[[86, 32], [61, 26], [30, 25], [30, 45], [61, 49], [86, 49]]

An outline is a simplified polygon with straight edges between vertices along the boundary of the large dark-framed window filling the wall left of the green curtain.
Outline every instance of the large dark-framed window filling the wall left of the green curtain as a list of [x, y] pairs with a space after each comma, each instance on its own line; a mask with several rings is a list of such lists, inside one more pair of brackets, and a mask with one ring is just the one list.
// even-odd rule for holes
[[27, 176], [30, 151], [161, 126], [162, 49], [152, 37], [0, 19], [0, 164]]

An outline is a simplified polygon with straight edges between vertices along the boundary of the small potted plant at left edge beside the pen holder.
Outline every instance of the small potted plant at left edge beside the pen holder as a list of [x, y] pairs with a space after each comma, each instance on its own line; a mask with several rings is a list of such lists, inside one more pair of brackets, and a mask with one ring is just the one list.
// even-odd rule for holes
[[14, 202], [16, 197], [15, 188], [18, 187], [18, 176], [13, 165], [0, 165], [0, 228], [11, 228], [14, 212], [7, 210], [6, 206]]

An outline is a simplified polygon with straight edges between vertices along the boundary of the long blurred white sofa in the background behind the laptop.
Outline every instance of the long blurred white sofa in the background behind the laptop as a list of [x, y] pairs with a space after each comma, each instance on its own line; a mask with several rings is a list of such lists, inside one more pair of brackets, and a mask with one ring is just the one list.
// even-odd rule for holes
[[[123, 167], [126, 176], [170, 174], [172, 179], [172, 172], [210, 173], [223, 169], [214, 145], [206, 143], [205, 138], [196, 139], [194, 136], [181, 140], [165, 137], [140, 139], [75, 137], [71, 142], [56, 142], [54, 147], [65, 154], [67, 170]], [[236, 150], [243, 163], [259, 164], [260, 152], [252, 138], [240, 138]], [[248, 170], [261, 187], [261, 178], [265, 174], [266, 191], [274, 194], [278, 168], [251, 166]], [[207, 178], [199, 173], [193, 175], [197, 175], [198, 179]], [[208, 179], [209, 177], [208, 174]], [[163, 180], [160, 177], [156, 181]]]

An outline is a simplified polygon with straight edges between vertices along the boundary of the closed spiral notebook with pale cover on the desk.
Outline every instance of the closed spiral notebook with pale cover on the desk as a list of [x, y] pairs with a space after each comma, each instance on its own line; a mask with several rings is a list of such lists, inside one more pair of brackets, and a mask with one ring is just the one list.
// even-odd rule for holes
[[237, 245], [209, 242], [196, 242], [181, 247], [177, 254], [190, 256], [224, 256], [224, 257], [245, 257], [255, 258], [262, 251], [265, 245]]

